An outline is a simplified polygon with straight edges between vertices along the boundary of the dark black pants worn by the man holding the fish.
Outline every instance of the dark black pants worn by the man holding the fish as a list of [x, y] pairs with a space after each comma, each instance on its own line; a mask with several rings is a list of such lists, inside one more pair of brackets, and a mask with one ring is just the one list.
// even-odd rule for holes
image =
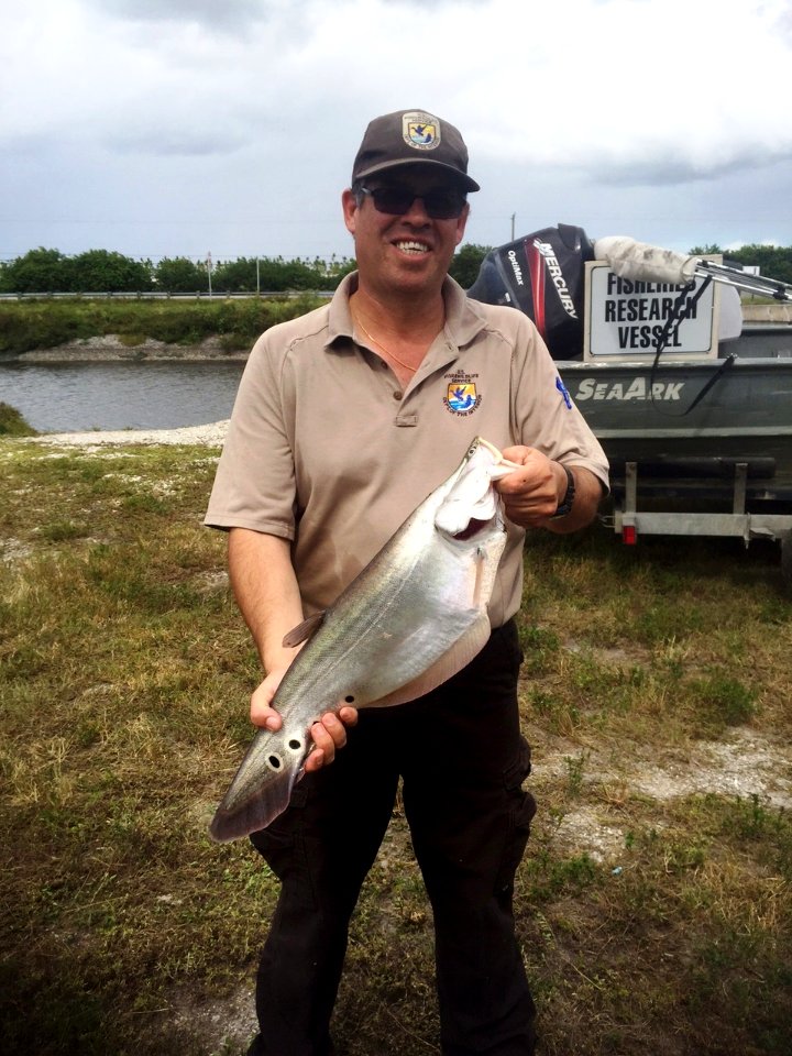
[[327, 1056], [349, 920], [391, 820], [399, 777], [435, 915], [446, 1056], [529, 1056], [534, 1002], [514, 934], [514, 875], [536, 811], [521, 788], [520, 654], [513, 623], [444, 685], [362, 711], [332, 766], [251, 838], [282, 880], [256, 988], [251, 1054]]

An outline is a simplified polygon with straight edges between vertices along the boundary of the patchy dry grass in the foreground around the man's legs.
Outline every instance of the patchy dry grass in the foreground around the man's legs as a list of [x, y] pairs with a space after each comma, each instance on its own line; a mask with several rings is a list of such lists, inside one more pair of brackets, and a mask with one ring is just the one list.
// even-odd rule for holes
[[[206, 833], [257, 675], [200, 527], [216, 454], [0, 439], [4, 1053], [245, 1050], [277, 884]], [[531, 539], [516, 913], [548, 1056], [792, 1050], [792, 821], [757, 784], [792, 794], [791, 617], [770, 544]], [[336, 1036], [439, 1053], [398, 811]]]

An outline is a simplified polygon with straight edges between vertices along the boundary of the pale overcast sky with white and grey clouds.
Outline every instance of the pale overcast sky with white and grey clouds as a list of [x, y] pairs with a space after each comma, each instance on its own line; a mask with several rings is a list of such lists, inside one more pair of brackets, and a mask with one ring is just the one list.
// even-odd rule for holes
[[371, 118], [470, 151], [465, 242], [792, 245], [792, 0], [0, 0], [0, 260], [346, 257]]

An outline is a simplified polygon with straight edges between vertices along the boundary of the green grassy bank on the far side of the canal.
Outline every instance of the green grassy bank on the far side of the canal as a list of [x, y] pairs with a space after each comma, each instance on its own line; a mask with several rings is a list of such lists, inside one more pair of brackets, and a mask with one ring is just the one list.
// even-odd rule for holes
[[0, 304], [0, 360], [68, 341], [117, 334], [133, 349], [146, 338], [179, 345], [219, 337], [229, 351], [248, 351], [276, 322], [294, 319], [321, 304], [314, 294], [294, 298], [211, 300], [110, 300], [43, 297]]

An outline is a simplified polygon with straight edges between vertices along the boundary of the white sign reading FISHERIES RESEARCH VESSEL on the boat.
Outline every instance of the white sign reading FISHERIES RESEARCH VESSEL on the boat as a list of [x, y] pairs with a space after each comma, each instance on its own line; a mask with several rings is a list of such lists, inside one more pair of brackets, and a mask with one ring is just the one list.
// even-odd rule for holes
[[[717, 355], [717, 290], [703, 278], [682, 300], [669, 331], [663, 359], [714, 359]], [[622, 278], [605, 262], [586, 264], [584, 359], [626, 362], [653, 360], [658, 343], [684, 286]]]

